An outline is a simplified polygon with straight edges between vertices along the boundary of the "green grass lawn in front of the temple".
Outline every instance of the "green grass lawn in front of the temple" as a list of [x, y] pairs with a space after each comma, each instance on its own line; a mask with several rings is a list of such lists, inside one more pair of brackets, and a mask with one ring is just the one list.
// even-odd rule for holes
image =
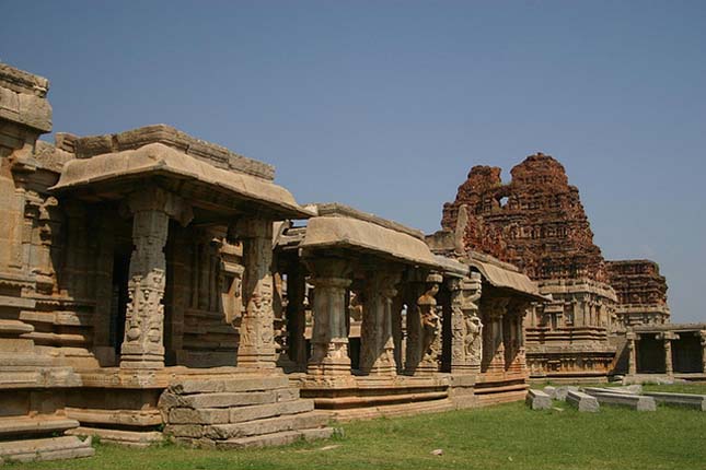
[[[523, 403], [345, 424], [344, 436], [253, 450], [99, 445], [90, 459], [36, 469], [706, 469], [706, 413], [605, 407], [578, 413]], [[431, 455], [443, 449], [442, 456]]]

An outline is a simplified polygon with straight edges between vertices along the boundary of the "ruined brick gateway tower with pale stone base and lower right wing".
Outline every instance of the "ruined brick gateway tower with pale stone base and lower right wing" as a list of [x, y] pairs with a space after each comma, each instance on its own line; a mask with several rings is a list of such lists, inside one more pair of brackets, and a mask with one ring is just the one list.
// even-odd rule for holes
[[[633, 325], [669, 320], [667, 284], [652, 261], [605, 261], [564, 166], [537, 153], [514, 166], [474, 166], [442, 233], [455, 249], [483, 251], [537, 281], [551, 301], [525, 318], [528, 363], [535, 378], [594, 380], [614, 371]], [[617, 351], [617, 357], [616, 357]]]

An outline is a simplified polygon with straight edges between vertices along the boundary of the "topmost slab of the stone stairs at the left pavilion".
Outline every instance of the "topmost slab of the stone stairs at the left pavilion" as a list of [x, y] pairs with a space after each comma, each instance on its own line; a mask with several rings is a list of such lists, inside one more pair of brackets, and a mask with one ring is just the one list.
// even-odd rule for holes
[[264, 391], [289, 387], [286, 375], [254, 376], [234, 378], [185, 379], [172, 383], [169, 391], [176, 395]]

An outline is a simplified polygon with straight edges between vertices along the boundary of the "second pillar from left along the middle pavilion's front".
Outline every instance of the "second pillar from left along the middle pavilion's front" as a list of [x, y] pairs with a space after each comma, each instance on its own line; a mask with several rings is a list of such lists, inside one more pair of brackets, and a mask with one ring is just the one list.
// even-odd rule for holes
[[392, 338], [392, 303], [400, 273], [374, 270], [367, 275], [360, 338], [360, 372], [397, 374]]

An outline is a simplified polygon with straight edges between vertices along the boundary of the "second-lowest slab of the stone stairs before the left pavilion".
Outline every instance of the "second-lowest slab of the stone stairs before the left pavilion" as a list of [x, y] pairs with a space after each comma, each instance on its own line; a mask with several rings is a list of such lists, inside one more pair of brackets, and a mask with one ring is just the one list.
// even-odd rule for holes
[[312, 427], [324, 427], [331, 414], [322, 411], [309, 411], [301, 414], [266, 418], [235, 424], [213, 424], [204, 426], [204, 437], [225, 440], [261, 434], [273, 434], [283, 431], [298, 431]]

